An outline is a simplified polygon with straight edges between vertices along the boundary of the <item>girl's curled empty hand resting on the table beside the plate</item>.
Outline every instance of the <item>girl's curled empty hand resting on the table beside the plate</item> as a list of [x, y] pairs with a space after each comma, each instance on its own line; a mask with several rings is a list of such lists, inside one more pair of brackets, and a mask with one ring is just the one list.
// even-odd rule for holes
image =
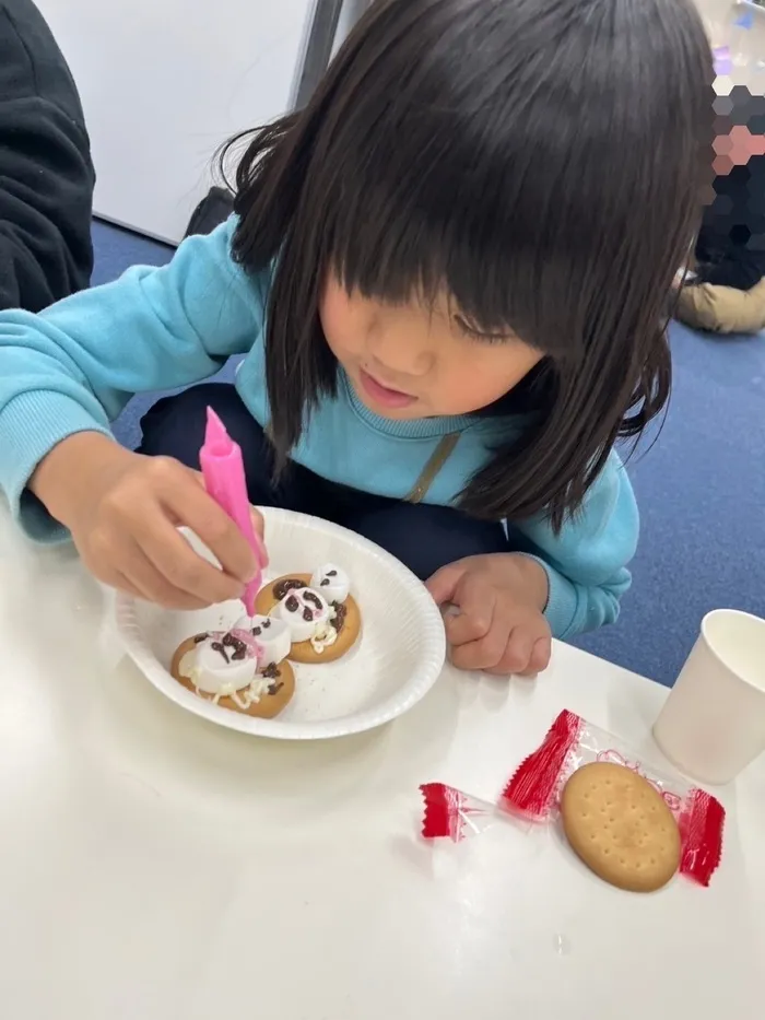
[[434, 574], [427, 588], [438, 606], [459, 609], [444, 620], [455, 666], [503, 676], [546, 669], [549, 583], [536, 560], [515, 553], [469, 556]]

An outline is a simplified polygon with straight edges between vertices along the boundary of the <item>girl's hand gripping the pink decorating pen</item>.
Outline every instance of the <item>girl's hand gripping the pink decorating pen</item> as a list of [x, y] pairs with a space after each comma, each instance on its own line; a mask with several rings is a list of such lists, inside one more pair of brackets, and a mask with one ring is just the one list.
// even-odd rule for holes
[[[201, 609], [239, 598], [256, 574], [239, 529], [207, 494], [201, 474], [177, 460], [142, 457], [85, 432], [55, 447], [30, 488], [69, 528], [99, 581], [151, 602]], [[252, 515], [262, 537], [262, 517], [255, 509]], [[181, 525], [223, 570], [191, 549], [176, 530]]]

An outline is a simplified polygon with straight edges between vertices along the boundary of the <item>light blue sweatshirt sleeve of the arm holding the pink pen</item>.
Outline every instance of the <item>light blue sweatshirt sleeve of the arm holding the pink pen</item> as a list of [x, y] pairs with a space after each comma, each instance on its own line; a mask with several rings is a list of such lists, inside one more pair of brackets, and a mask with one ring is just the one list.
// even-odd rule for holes
[[[231, 257], [232, 219], [190, 237], [169, 265], [137, 267], [38, 315], [0, 312], [0, 490], [13, 513], [54, 446], [78, 432], [110, 434], [137, 392], [186, 386], [245, 353], [262, 331], [266, 281]], [[45, 538], [39, 507], [22, 524]]]

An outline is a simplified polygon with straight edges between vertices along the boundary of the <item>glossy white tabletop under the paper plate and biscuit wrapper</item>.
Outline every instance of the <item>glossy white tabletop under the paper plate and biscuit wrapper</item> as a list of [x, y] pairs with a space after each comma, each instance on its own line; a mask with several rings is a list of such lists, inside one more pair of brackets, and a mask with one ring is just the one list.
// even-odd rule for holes
[[762, 1018], [765, 763], [707, 890], [619, 892], [548, 829], [417, 839], [420, 783], [497, 793], [564, 706], [639, 745], [661, 688], [558, 645], [536, 684], [447, 669], [385, 729], [281, 745], [115, 669], [102, 612], [0, 508], [3, 1018]]

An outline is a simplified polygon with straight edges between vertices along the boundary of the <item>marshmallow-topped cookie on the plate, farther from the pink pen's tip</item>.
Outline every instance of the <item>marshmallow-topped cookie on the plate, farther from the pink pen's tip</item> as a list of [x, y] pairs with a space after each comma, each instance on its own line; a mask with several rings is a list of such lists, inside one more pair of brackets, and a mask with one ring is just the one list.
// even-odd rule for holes
[[[331, 563], [314, 574], [287, 574], [261, 588], [258, 612], [286, 625], [296, 663], [332, 663], [361, 633], [358, 606], [348, 575]], [[261, 619], [261, 618], [258, 618]]]

